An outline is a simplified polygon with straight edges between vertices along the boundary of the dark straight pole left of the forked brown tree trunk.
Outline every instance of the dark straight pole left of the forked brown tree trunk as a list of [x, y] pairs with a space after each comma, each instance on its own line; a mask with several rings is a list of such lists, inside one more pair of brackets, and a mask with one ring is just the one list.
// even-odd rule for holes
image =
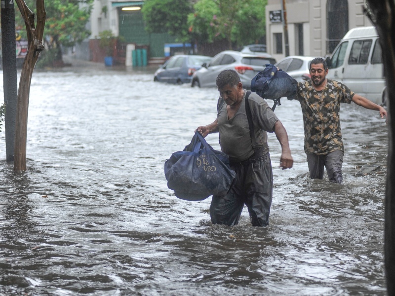
[[1, 7], [1, 48], [3, 65], [5, 154], [7, 161], [14, 160], [15, 116], [18, 96], [15, 52], [15, 8], [13, 1]]

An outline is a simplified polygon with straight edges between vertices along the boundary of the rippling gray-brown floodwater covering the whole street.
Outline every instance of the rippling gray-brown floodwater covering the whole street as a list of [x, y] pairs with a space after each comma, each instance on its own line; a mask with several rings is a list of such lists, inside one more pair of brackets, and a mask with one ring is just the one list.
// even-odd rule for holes
[[246, 208], [237, 226], [212, 225], [211, 197], [177, 199], [163, 165], [217, 98], [152, 72], [35, 72], [26, 173], [0, 133], [0, 295], [386, 295], [385, 120], [343, 104], [344, 184], [310, 180], [300, 105], [283, 99], [295, 163], [278, 168], [270, 134], [270, 225]]

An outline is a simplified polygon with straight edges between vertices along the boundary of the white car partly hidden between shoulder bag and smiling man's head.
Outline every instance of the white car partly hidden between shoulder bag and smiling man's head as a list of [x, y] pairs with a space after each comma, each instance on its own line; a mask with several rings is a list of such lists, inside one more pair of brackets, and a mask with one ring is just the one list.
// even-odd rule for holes
[[276, 63], [276, 67], [285, 71], [298, 82], [310, 79], [310, 62], [314, 57], [289, 56]]

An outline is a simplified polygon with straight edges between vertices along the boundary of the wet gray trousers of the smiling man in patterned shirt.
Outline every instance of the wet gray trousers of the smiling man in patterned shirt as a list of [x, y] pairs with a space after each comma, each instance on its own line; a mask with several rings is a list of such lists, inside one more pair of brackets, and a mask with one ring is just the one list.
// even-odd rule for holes
[[341, 184], [343, 182], [342, 164], [344, 152], [336, 150], [328, 154], [306, 154], [307, 164], [311, 179], [322, 179], [324, 177], [324, 167], [330, 182]]

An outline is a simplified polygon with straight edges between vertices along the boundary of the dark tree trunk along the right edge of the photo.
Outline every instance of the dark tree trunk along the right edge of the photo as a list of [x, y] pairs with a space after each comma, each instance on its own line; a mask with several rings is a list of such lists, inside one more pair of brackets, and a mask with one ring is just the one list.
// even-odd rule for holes
[[367, 0], [383, 48], [384, 74], [387, 82], [387, 112], [389, 153], [384, 222], [384, 261], [388, 295], [395, 295], [395, 2], [394, 0]]

